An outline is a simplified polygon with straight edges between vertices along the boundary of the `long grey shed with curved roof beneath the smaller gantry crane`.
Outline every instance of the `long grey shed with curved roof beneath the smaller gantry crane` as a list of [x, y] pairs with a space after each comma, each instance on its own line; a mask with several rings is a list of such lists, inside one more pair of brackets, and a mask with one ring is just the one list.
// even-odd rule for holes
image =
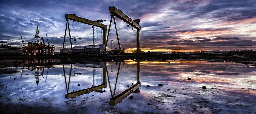
[[[92, 54], [100, 54], [104, 52], [105, 45], [98, 44], [98, 45], [88, 45], [88, 46], [75, 46], [73, 47], [73, 53], [75, 54], [85, 54], [85, 55], [92, 55]], [[62, 49], [60, 49], [62, 52]], [[64, 48], [64, 53], [71, 53], [71, 48]]]

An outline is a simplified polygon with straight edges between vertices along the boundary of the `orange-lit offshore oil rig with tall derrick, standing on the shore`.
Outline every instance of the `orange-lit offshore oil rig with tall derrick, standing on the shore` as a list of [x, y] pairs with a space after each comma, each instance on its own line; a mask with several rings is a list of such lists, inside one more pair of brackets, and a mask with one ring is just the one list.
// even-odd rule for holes
[[[46, 33], [46, 31], [45, 31]], [[20, 34], [21, 36], [21, 34]], [[47, 37], [46, 33], [46, 38], [47, 38], [47, 45], [44, 43], [44, 38], [41, 37], [41, 41], [39, 41], [39, 29], [38, 26], [36, 28], [36, 35], [35, 35], [35, 42], [28, 42], [24, 43], [24, 40], [21, 36], [22, 40], [22, 50], [23, 50], [23, 55], [53, 55], [54, 54], [54, 45], [49, 44], [49, 40]], [[24, 46], [24, 44], [28, 44], [28, 46]]]

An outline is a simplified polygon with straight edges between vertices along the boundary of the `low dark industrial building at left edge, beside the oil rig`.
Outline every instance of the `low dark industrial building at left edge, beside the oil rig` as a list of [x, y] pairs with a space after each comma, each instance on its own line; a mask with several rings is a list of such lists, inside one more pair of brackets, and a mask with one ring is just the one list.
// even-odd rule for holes
[[22, 55], [22, 49], [20, 47], [3, 45], [3, 43], [7, 43], [4, 41], [1, 41], [0, 43], [0, 55]]

